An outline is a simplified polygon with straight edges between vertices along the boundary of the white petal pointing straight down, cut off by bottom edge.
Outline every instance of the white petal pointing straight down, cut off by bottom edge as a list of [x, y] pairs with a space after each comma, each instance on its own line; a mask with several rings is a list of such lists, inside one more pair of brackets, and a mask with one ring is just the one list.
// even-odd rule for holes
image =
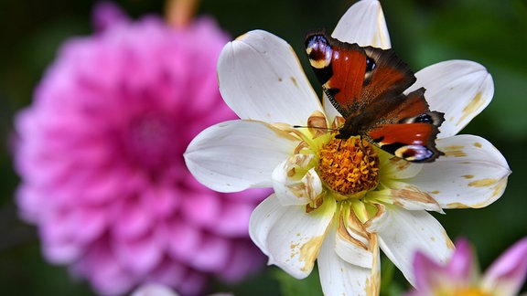
[[336, 227], [330, 227], [317, 259], [324, 294], [378, 295], [380, 287], [379, 252], [377, 251], [373, 256], [371, 268], [351, 264], [341, 259], [335, 251], [337, 248], [336, 233]]

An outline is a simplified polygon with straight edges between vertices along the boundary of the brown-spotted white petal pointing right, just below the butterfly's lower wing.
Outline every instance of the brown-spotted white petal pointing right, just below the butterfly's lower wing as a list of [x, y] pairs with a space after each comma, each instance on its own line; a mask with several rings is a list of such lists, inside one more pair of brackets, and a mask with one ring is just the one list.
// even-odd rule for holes
[[437, 140], [437, 149], [446, 155], [406, 182], [427, 191], [441, 207], [488, 206], [503, 194], [511, 170], [489, 141], [463, 134]]

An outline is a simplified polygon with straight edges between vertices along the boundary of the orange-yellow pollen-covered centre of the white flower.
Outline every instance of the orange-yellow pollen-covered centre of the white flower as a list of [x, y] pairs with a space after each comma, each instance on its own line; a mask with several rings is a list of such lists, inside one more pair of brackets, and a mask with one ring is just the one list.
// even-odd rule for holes
[[318, 174], [329, 188], [342, 196], [357, 195], [379, 183], [377, 151], [360, 137], [332, 138], [318, 151]]

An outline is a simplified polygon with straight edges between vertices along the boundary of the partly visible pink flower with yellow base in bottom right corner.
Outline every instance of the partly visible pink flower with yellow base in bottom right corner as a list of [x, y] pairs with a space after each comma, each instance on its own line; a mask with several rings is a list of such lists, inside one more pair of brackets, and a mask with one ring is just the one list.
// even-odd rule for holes
[[408, 296], [516, 295], [527, 276], [527, 238], [523, 238], [481, 276], [472, 248], [459, 239], [456, 252], [440, 265], [421, 252], [414, 256], [415, 291]]

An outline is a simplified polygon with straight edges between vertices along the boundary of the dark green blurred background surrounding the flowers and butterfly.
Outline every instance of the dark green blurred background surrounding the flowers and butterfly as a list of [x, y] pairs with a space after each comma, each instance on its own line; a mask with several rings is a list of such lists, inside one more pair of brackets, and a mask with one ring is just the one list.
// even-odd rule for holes
[[[134, 18], [163, 14], [162, 0], [115, 1]], [[199, 14], [214, 16], [237, 37], [262, 28], [285, 38], [299, 55], [309, 78], [303, 40], [309, 29], [332, 30], [354, 1], [344, 0], [202, 0]], [[69, 37], [90, 35], [89, 0], [14, 1], [0, 3], [0, 294], [91, 295], [89, 286], [72, 280], [63, 267], [41, 257], [35, 227], [20, 221], [14, 203], [18, 178], [9, 153], [12, 120], [27, 106], [32, 92], [59, 45]], [[382, 1], [393, 48], [416, 71], [445, 59], [470, 59], [489, 69], [495, 95], [462, 133], [478, 134], [507, 158], [512, 174], [505, 195], [482, 209], [448, 210], [436, 215], [451, 238], [468, 238], [480, 265], [489, 263], [527, 234], [527, 1], [525, 0], [399, 0]], [[318, 88], [319, 90], [319, 88]], [[383, 276], [394, 277], [397, 294], [406, 288], [397, 270], [383, 260]], [[392, 273], [393, 272], [393, 273]], [[239, 286], [220, 291], [237, 294], [289, 294], [311, 289], [315, 280], [291, 280], [270, 268]], [[262, 292], [262, 287], [265, 288]], [[259, 292], [260, 291], [260, 292]], [[312, 291], [312, 290], [305, 290]]]

